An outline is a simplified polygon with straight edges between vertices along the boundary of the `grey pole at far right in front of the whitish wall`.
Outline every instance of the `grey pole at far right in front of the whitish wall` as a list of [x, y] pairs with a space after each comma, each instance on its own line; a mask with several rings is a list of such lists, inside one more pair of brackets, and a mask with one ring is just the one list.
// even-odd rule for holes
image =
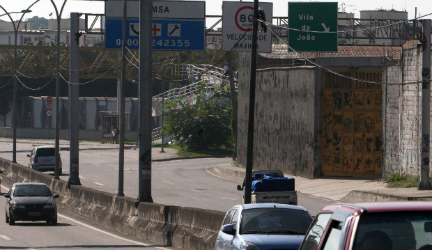
[[422, 164], [419, 190], [431, 190], [429, 180], [431, 136], [431, 19], [423, 19], [422, 60]]

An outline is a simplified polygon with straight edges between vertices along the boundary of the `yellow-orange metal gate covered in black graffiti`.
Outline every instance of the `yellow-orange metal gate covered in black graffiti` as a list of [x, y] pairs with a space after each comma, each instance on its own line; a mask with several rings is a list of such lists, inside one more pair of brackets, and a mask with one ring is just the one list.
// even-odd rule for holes
[[[381, 82], [382, 72], [340, 72]], [[383, 148], [382, 89], [325, 72], [323, 77], [323, 175], [380, 177]]]

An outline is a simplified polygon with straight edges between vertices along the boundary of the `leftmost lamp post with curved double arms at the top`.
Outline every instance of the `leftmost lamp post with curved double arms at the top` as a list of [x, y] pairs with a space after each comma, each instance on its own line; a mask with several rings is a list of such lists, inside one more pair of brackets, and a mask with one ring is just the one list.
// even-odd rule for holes
[[[40, 0], [36, 0], [33, 3], [31, 3], [31, 6], [35, 5]], [[20, 24], [22, 22], [22, 18], [26, 13], [31, 13], [31, 6], [27, 8], [26, 10], [21, 10], [18, 12], [12, 12], [8, 13], [3, 6], [0, 6], [0, 8], [6, 13], [3, 15], [8, 15], [10, 22], [12, 22], [13, 25], [13, 31], [15, 33], [15, 47], [14, 47], [14, 60], [13, 60], [13, 104], [12, 104], [12, 127], [13, 127], [13, 153], [12, 153], [12, 162], [17, 163], [17, 37], [18, 37], [18, 29], [20, 29]], [[18, 21], [17, 24], [13, 21], [13, 18], [10, 16], [10, 14], [13, 13], [22, 13], [20, 21]]]

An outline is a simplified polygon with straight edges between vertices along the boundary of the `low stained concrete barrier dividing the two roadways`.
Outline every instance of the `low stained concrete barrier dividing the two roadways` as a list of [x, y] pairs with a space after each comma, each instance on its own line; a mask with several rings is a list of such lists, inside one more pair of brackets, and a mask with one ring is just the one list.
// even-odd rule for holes
[[139, 240], [178, 249], [213, 249], [224, 212], [182, 208], [155, 203], [139, 203], [134, 198], [116, 196], [82, 186], [0, 158], [2, 185], [15, 182], [43, 182], [60, 194], [59, 212], [72, 214], [98, 226]]

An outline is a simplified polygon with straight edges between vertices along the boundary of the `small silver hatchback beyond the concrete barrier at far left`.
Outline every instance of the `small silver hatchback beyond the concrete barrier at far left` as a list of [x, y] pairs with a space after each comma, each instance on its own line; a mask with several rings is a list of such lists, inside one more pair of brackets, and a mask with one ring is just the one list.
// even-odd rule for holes
[[[31, 155], [27, 155], [27, 157], [30, 157], [29, 167], [32, 169], [37, 171], [56, 170], [56, 148], [53, 146], [37, 146], [31, 150]], [[61, 174], [61, 159], [59, 165], [59, 173]]]

